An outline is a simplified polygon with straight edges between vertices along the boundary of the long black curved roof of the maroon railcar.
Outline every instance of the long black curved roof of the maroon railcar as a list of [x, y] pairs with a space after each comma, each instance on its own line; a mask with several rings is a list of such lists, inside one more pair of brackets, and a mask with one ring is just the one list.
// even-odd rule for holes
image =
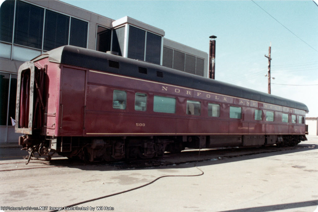
[[[100, 51], [68, 45], [48, 51], [45, 54], [34, 58], [32, 61], [37, 61], [45, 57], [49, 57], [49, 61], [55, 63], [62, 63], [87, 69], [143, 78], [157, 82], [174, 84], [178, 86], [205, 90], [213, 93], [308, 111], [308, 107], [300, 102], [229, 83], [220, 82], [218, 80], [177, 71], [164, 66], [116, 56]], [[110, 67], [109, 61], [118, 62], [115, 63], [118, 65], [118, 67], [114, 67], [114, 65], [111, 65], [114, 68]], [[146, 68], [147, 74], [145, 74], [145, 72], [139, 73], [138, 67]], [[157, 76], [158, 71], [161, 72], [159, 76]]]

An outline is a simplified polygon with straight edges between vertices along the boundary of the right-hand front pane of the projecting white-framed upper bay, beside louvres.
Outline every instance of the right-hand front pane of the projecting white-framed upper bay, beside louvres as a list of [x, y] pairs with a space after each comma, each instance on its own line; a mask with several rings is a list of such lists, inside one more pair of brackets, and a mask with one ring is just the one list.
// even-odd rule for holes
[[147, 32], [146, 61], [160, 64], [161, 37]]

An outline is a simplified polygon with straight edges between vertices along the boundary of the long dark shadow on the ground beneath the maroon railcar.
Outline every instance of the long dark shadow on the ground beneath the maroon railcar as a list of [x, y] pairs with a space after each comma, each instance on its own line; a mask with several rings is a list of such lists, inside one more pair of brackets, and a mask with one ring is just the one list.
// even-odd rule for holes
[[[70, 160], [63, 158], [53, 158], [50, 162], [43, 162], [51, 166], [63, 166], [77, 168], [81, 170], [121, 170], [121, 169], [179, 169], [193, 167], [196, 162], [197, 166], [207, 166], [227, 162], [237, 162], [269, 156], [292, 154], [302, 151], [318, 149], [316, 144], [298, 144], [294, 147], [278, 148], [269, 146], [265, 148], [231, 148], [231, 149], [189, 149], [178, 154], [165, 153], [162, 157], [152, 159], [135, 159], [115, 162], [84, 163], [79, 160]], [[32, 162], [32, 161], [31, 161]], [[30, 162], [30, 163], [31, 163]], [[35, 161], [34, 161], [35, 162]], [[182, 166], [176, 166], [181, 165]]]

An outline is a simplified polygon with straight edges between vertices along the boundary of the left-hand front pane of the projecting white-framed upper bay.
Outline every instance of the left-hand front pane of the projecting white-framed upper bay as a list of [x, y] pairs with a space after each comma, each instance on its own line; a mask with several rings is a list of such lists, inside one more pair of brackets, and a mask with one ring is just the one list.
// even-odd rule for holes
[[129, 26], [128, 58], [144, 60], [146, 31]]

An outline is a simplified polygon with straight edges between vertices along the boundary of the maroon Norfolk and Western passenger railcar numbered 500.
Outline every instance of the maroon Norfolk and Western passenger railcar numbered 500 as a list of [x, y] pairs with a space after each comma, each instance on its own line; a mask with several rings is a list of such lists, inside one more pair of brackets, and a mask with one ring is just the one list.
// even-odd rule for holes
[[188, 148], [295, 145], [305, 104], [108, 53], [63, 46], [21, 65], [16, 132], [39, 155], [150, 158]]

